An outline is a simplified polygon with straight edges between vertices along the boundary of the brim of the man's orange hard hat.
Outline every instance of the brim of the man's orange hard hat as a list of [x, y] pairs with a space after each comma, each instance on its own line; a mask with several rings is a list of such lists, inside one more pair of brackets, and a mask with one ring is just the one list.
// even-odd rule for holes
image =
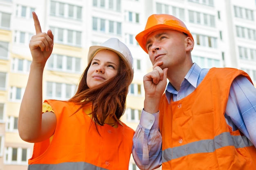
[[194, 41], [193, 36], [191, 35], [191, 33], [189, 31], [184, 30], [184, 28], [182, 28], [182, 27], [179, 28], [179, 26], [177, 26], [177, 25], [169, 26], [169, 25], [166, 25], [166, 24], [158, 24], [158, 25], [152, 26], [148, 29], [145, 29], [144, 31], [141, 31], [135, 37], [135, 39], [137, 40], [137, 42], [139, 43], [141, 48], [146, 53], [148, 53], [148, 50], [146, 49], [146, 40], [148, 38], [148, 35], [150, 35], [150, 33], [153, 33], [154, 31], [157, 31], [159, 29], [171, 29], [171, 30], [179, 31], [181, 33], [186, 33]]

